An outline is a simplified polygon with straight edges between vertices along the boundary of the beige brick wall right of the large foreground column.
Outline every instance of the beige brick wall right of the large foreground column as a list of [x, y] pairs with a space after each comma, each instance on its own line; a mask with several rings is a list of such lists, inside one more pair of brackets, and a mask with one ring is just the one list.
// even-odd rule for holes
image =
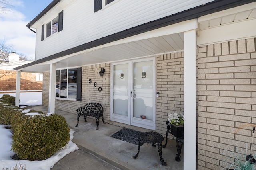
[[[227, 150], [246, 154], [256, 123], [255, 38], [199, 47], [198, 169], [233, 162]], [[256, 151], [254, 145], [252, 154]], [[247, 150], [247, 154], [250, 150]]]

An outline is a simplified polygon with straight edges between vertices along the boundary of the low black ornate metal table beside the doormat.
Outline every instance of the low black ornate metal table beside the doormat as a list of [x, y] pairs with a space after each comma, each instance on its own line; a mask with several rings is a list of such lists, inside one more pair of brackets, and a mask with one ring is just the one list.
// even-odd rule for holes
[[[136, 159], [139, 155], [140, 152], [140, 144], [145, 142], [145, 143], [152, 143], [152, 146], [158, 146], [158, 152], [159, 152], [159, 156], [160, 156], [160, 160], [162, 162], [162, 165], [166, 166], [166, 162], [164, 162], [164, 159], [162, 157], [162, 141], [164, 141], [164, 137], [157, 132], [145, 132], [142, 133], [138, 136], [138, 153], [133, 156], [132, 158]], [[156, 145], [155, 145], [156, 144]]]

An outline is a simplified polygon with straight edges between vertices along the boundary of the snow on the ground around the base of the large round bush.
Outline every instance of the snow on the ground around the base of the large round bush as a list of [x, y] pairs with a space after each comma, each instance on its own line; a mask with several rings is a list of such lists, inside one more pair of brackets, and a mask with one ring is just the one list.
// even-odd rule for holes
[[8, 125], [0, 125], [0, 169], [14, 168], [21, 165], [27, 170], [50, 170], [60, 159], [64, 158], [70, 152], [78, 150], [78, 146], [72, 142], [74, 130], [70, 129], [70, 141], [66, 147], [56, 152], [52, 157], [41, 161], [28, 161], [28, 160], [12, 160], [10, 156], [14, 155], [13, 151], [10, 151], [12, 146], [12, 130], [4, 128]]

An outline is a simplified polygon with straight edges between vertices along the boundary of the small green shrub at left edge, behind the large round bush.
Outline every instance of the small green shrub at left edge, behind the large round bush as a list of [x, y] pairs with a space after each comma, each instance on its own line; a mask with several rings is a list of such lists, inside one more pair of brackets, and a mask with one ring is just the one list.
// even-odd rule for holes
[[2, 105], [0, 106], [0, 124], [11, 125], [13, 117], [21, 113], [20, 107]]

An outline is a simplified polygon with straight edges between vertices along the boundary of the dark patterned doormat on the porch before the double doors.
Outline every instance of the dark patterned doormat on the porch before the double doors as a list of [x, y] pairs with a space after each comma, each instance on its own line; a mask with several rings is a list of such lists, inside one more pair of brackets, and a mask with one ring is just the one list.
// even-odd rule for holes
[[[138, 145], [138, 143], [139, 143], [138, 135], [140, 135], [141, 133], [143, 133], [143, 132], [135, 131], [133, 129], [128, 129], [128, 128], [123, 128], [120, 131], [111, 135], [111, 137]], [[141, 143], [140, 146], [142, 144], [143, 143]]]

